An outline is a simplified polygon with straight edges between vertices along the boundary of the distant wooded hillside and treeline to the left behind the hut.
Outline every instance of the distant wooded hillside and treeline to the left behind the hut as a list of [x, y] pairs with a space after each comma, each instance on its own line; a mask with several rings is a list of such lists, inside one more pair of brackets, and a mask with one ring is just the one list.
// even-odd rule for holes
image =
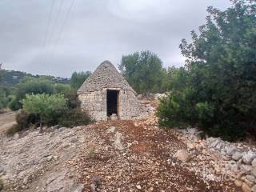
[[32, 75], [20, 71], [0, 70], [0, 110], [22, 108], [26, 94], [64, 94], [75, 97], [76, 90], [90, 75], [90, 71], [74, 72], [70, 79], [47, 75]]

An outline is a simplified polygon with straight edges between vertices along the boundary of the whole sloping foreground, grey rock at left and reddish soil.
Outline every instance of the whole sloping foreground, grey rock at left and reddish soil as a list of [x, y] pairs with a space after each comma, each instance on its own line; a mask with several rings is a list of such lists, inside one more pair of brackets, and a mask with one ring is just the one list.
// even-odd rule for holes
[[[137, 123], [135, 123], [137, 125]], [[98, 122], [73, 129], [26, 131], [0, 140], [5, 191], [239, 191], [174, 162], [182, 142], [156, 126]], [[94, 187], [94, 185], [93, 185]], [[96, 190], [94, 190], [96, 191]]]

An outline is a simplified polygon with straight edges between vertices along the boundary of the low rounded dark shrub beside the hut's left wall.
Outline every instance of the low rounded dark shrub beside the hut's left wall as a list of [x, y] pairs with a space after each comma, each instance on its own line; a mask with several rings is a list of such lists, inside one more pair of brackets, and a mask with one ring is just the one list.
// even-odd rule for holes
[[66, 110], [62, 116], [58, 118], [58, 124], [66, 127], [84, 126], [90, 122], [89, 115], [78, 108]]

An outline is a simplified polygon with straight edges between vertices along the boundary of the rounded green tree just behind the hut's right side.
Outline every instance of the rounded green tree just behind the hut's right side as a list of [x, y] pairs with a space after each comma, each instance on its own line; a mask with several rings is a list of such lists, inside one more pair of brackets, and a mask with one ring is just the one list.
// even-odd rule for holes
[[162, 92], [165, 70], [157, 54], [147, 50], [124, 55], [118, 68], [138, 93]]

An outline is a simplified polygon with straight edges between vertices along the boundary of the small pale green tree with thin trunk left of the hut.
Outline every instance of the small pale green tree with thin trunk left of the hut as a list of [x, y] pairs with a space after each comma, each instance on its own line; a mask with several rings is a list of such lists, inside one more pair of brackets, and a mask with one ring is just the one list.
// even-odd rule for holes
[[22, 105], [27, 113], [39, 115], [42, 132], [42, 123], [56, 119], [63, 110], [66, 110], [66, 98], [62, 94], [26, 94]]

